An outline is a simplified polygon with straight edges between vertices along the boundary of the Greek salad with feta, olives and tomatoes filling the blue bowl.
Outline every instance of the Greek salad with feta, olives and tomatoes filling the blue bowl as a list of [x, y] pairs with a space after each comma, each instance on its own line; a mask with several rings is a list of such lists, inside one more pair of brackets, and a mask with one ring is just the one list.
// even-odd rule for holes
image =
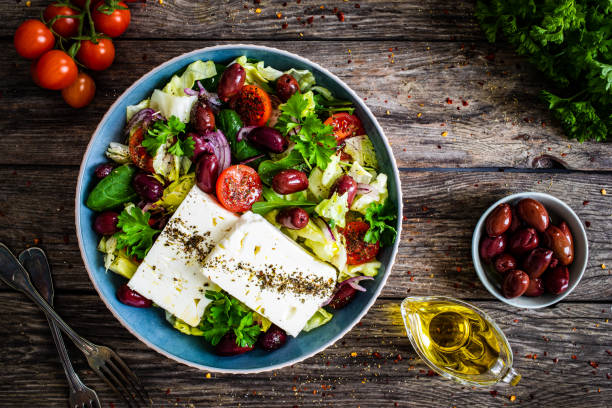
[[351, 102], [308, 70], [195, 61], [128, 106], [86, 201], [122, 303], [223, 356], [329, 322], [396, 239]]

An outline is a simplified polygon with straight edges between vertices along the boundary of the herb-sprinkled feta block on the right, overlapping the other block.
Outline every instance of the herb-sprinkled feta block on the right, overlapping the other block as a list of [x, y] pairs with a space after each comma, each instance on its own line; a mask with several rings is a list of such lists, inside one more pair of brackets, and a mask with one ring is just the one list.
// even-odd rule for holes
[[292, 336], [333, 294], [336, 270], [247, 212], [211, 251], [204, 275]]

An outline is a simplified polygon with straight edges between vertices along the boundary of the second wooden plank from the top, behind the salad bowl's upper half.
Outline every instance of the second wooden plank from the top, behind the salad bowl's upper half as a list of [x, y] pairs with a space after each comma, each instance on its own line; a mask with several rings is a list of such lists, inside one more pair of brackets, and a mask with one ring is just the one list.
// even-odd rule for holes
[[[0, 80], [0, 128], [6, 129], [0, 163], [79, 164], [91, 133], [124, 89], [161, 62], [216, 43], [121, 41], [114, 66], [94, 75], [94, 103], [77, 111], [59, 93], [36, 87], [29, 62], [0, 42], [8, 48], [0, 70], [17, 73]], [[547, 155], [572, 169], [612, 169], [612, 144], [568, 141], [538, 100], [539, 75], [509, 50], [489, 61], [484, 44], [260, 44], [321, 63], [367, 98], [399, 166], [532, 168], [546, 165], [538, 158]]]

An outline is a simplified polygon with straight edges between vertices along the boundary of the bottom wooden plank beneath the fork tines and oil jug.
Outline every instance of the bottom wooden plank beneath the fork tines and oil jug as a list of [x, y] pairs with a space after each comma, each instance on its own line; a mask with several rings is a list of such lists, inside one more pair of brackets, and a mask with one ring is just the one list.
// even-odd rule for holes
[[[42, 314], [20, 294], [0, 293], [0, 303], [4, 322], [0, 326], [0, 405], [65, 407], [67, 387]], [[95, 295], [60, 294], [56, 303], [79, 333], [124, 357], [156, 407], [472, 407], [512, 405], [511, 395], [521, 406], [593, 407], [606, 406], [612, 391], [612, 380], [607, 378], [612, 372], [612, 357], [606, 352], [612, 330], [608, 303], [509, 311], [500, 302], [478, 302], [505, 332], [514, 366], [523, 375], [517, 387], [482, 389], [428, 376], [428, 367], [416, 358], [404, 335], [399, 300], [379, 300], [363, 325], [303, 363], [271, 373], [212, 374], [208, 379], [204, 372], [147, 349]], [[71, 356], [104, 407], [111, 402], [123, 407], [74, 348]]]

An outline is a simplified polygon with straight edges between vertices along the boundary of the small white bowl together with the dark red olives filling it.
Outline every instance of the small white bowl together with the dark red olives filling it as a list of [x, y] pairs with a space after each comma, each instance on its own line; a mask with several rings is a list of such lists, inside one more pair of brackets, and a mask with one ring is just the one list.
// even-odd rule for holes
[[522, 308], [550, 306], [567, 296], [586, 268], [582, 222], [561, 200], [519, 193], [494, 203], [472, 237], [478, 277], [495, 297]]

